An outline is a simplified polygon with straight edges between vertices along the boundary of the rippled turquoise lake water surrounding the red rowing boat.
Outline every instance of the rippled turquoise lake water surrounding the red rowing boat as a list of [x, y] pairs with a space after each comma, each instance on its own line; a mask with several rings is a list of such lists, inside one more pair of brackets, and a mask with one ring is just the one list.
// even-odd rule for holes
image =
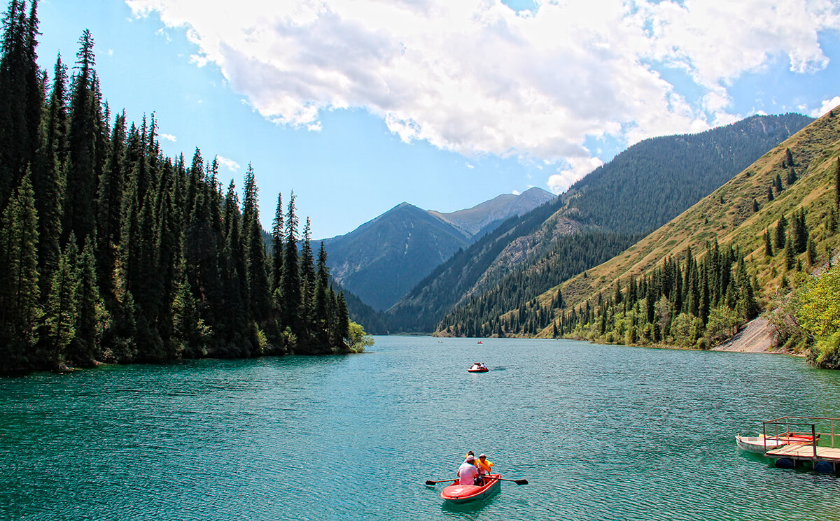
[[[484, 361], [490, 373], [472, 374]], [[840, 417], [840, 373], [780, 355], [376, 337], [342, 357], [0, 378], [2, 519], [840, 519], [840, 477], [738, 432]], [[504, 477], [444, 505], [468, 450]]]

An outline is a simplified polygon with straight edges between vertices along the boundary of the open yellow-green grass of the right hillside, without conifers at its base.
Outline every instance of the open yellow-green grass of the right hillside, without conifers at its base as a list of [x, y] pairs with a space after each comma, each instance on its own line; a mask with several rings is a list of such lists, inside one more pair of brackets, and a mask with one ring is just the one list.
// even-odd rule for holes
[[[784, 305], [785, 295], [791, 289], [808, 274], [829, 263], [840, 241], [836, 231], [840, 115], [834, 112], [837, 109], [786, 139], [633, 247], [549, 289], [533, 304], [549, 310], [560, 291], [564, 297], [564, 310], [561, 314], [559, 310], [552, 309], [551, 316], [567, 317], [570, 310], [578, 314], [590, 309], [595, 316], [596, 308], [610, 305], [610, 298], [605, 300], [604, 295], [616, 294], [619, 282], [622, 292], [625, 292], [630, 280], [653, 280], [652, 276], [661, 274], [662, 268], [683, 256], [687, 248], [691, 248], [697, 254], [696, 258], [702, 260], [706, 246], [717, 242], [722, 247], [731, 247], [736, 257], [743, 257], [743, 267], [753, 278], [752, 286], [762, 310], [774, 310]], [[796, 177], [792, 184], [791, 171]], [[783, 190], [774, 187], [779, 180]], [[795, 221], [796, 216], [801, 216], [801, 212], [804, 213], [808, 237], [812, 242], [810, 251], [795, 253], [790, 247], [772, 247], [773, 255], [768, 255], [765, 233], [774, 238], [782, 216], [789, 223], [790, 231], [790, 223]], [[612, 305], [615, 305], [615, 300]], [[628, 310], [627, 305], [624, 305], [624, 310]], [[640, 312], [638, 306], [635, 311]], [[618, 315], [619, 310], [615, 313]], [[558, 322], [543, 325], [538, 335], [553, 335], [557, 325]], [[593, 337], [591, 328], [587, 330], [583, 327], [579, 331], [588, 331], [589, 337]], [[613, 340], [624, 341], [619, 338]]]

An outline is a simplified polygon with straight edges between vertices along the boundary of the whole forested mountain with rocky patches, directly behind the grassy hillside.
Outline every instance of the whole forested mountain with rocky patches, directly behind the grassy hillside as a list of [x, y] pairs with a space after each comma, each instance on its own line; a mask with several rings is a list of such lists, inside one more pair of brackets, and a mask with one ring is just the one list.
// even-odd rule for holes
[[[438, 328], [462, 326], [463, 331], [470, 327], [458, 320], [486, 325], [558, 284], [559, 277], [577, 273], [570, 273], [571, 267], [591, 268], [621, 252], [811, 121], [800, 114], [755, 116], [704, 133], [637, 143], [573, 185], [556, 211], [532, 222], [528, 232], [520, 228], [522, 233], [476, 242], [474, 251], [485, 252], [475, 260], [480, 269], [469, 260], [456, 267], [453, 258], [452, 266], [436, 270], [440, 279], [427, 278], [426, 289], [412, 289], [388, 310], [390, 320], [407, 326], [417, 316], [428, 326], [439, 317], [445, 323]], [[490, 254], [494, 258], [487, 258]], [[432, 309], [431, 295], [440, 288], [457, 288], [458, 294], [437, 299]], [[454, 315], [444, 317], [452, 305]]]

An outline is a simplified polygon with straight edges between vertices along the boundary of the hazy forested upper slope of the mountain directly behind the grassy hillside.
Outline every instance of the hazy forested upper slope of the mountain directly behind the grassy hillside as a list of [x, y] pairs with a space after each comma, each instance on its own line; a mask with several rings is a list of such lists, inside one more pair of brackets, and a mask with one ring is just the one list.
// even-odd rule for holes
[[798, 132], [811, 117], [753, 116], [704, 133], [645, 139], [572, 185], [569, 213], [619, 233], [651, 232]]

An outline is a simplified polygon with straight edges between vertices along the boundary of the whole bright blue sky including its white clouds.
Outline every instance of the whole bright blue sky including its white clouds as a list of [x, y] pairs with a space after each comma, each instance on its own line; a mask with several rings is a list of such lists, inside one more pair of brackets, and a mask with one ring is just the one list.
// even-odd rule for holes
[[40, 0], [39, 64], [90, 29], [112, 112], [251, 164], [266, 229], [562, 193], [645, 138], [840, 104], [838, 0]]

